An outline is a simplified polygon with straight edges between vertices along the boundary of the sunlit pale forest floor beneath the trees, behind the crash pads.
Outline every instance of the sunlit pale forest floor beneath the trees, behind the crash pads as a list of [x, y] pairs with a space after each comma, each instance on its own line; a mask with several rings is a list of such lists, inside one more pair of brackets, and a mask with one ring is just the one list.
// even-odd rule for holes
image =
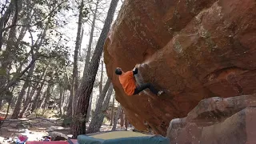
[[[0, 113], [0, 116], [1, 113]], [[89, 126], [89, 123], [86, 124]], [[103, 124], [100, 131], [111, 130], [112, 126], [106, 122]], [[117, 125], [117, 130], [126, 130], [125, 127]], [[128, 128], [131, 130], [131, 128]], [[49, 135], [49, 132], [58, 132], [70, 137], [70, 127], [62, 126], [62, 120], [59, 118], [35, 118], [30, 116], [29, 118], [20, 118], [18, 120], [6, 121], [0, 126], [0, 144], [10, 143], [10, 141], [16, 139], [19, 134], [25, 134], [29, 138], [29, 141], [41, 140], [43, 136]]]

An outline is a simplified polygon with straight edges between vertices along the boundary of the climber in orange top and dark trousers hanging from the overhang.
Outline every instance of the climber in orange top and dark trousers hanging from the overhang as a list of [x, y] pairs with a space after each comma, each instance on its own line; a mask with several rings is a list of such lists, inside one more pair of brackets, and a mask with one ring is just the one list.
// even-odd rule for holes
[[134, 94], [139, 94], [142, 90], [145, 90], [148, 88], [153, 94], [156, 94], [158, 96], [161, 95], [163, 91], [156, 90], [151, 83], [145, 83], [145, 84], [142, 84], [141, 86], [135, 85], [134, 74], [138, 74], [138, 66], [140, 65], [137, 64], [134, 67], [134, 70], [130, 70], [127, 72], [123, 72], [120, 67], [117, 67], [115, 70], [115, 74], [119, 75], [119, 81], [125, 93], [130, 96]]

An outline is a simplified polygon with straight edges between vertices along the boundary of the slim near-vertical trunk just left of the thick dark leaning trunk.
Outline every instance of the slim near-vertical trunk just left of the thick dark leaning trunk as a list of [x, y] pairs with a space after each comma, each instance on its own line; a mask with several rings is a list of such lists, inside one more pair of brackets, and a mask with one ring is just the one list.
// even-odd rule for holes
[[80, 9], [79, 9], [79, 16], [78, 16], [78, 32], [77, 32], [77, 38], [76, 38], [75, 48], [74, 48], [74, 67], [73, 67], [71, 90], [70, 90], [70, 109], [69, 109], [68, 115], [72, 115], [72, 116], [74, 116], [74, 103], [76, 101], [75, 94], [78, 88], [78, 50], [81, 45], [83, 7], [84, 7], [84, 4], [82, 0]]

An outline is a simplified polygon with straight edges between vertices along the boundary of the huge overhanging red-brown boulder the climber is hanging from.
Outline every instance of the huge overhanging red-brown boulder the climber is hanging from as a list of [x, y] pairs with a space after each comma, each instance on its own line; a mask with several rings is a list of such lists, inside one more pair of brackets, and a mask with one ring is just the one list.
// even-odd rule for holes
[[[104, 58], [129, 121], [166, 135], [170, 120], [186, 117], [204, 98], [256, 92], [256, 1], [126, 0]], [[138, 83], [170, 91], [127, 96], [114, 70], [137, 63], [144, 64]]]

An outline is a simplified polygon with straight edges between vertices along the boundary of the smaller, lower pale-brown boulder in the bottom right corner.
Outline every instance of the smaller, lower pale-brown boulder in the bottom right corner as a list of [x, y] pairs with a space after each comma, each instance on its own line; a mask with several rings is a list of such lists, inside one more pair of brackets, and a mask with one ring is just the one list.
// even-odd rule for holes
[[255, 143], [256, 95], [208, 98], [186, 118], [170, 122], [170, 143]]

